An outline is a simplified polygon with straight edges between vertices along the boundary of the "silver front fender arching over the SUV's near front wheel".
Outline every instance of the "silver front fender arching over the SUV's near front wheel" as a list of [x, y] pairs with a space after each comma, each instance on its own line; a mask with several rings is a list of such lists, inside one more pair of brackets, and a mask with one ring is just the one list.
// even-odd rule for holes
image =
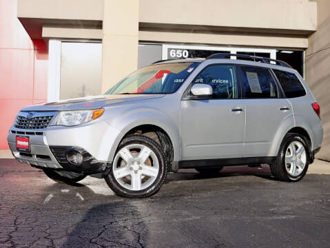
[[[153, 107], [139, 107], [133, 110], [127, 110], [127, 112], [125, 112], [125, 110], [123, 111], [121, 108], [121, 114], [116, 114], [116, 112], [116, 110], [113, 110], [110, 116], [103, 116], [104, 121], [115, 127], [117, 130], [120, 130], [120, 133], [116, 136], [115, 140], [112, 141], [112, 147], [108, 158], [109, 162], [113, 161], [116, 149], [125, 134], [139, 125], [155, 125], [163, 129], [172, 142], [174, 161], [180, 159], [181, 143], [178, 130], [178, 112], [174, 110], [172, 116], [169, 116], [161, 110]], [[112, 116], [116, 116], [116, 118], [111, 118]]]

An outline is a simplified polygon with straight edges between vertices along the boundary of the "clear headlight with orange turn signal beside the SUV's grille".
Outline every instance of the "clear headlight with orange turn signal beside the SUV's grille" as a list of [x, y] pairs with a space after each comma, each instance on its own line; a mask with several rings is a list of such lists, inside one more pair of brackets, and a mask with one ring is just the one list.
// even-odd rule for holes
[[99, 118], [104, 112], [104, 109], [98, 110], [72, 110], [72, 111], [61, 111], [57, 114], [50, 123], [54, 125], [74, 126], [87, 123], [96, 118]]

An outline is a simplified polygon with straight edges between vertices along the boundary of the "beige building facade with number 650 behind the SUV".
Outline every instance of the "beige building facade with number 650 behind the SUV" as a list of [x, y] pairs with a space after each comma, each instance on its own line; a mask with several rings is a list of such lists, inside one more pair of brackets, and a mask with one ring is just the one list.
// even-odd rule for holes
[[[32, 72], [31, 68], [28, 69], [30, 64], [19, 65], [34, 75], [32, 81], [22, 83], [25, 82], [23, 78], [8, 78], [1, 79], [0, 85], [15, 85], [15, 80], [19, 80], [23, 85], [32, 85], [33, 92], [43, 89], [42, 99], [58, 101], [102, 94], [136, 68], [161, 59], [204, 57], [216, 52], [281, 59], [305, 77], [321, 105], [325, 132], [318, 156], [330, 160], [327, 152], [330, 148], [330, 106], [327, 100], [330, 93], [327, 87], [330, 79], [327, 70], [330, 62], [329, 2], [17, 0], [16, 3], [0, 0], [1, 14], [7, 13], [4, 8], [14, 8], [17, 4], [17, 13], [10, 16], [10, 20], [19, 25], [28, 43], [44, 44], [43, 51], [47, 51], [40, 68], [38, 59], [32, 60]], [[6, 25], [8, 19], [0, 18], [0, 35], [13, 32]], [[0, 36], [0, 52], [6, 42], [17, 43], [15, 35], [12, 34], [12, 41]], [[33, 50], [34, 54], [38, 52], [36, 45], [26, 49]], [[0, 61], [2, 59], [5, 63], [11, 56], [20, 63], [19, 56], [5, 56], [3, 52]], [[11, 66], [15, 72], [16, 65]], [[1, 68], [2, 64], [0, 70], [3, 70]], [[38, 77], [41, 70], [42, 80]], [[1, 95], [0, 101], [13, 97], [11, 94], [18, 97], [21, 93], [19, 88], [11, 89], [10, 94]], [[38, 94], [29, 96], [31, 103], [39, 100], [41, 93]], [[25, 104], [12, 98], [7, 104], [16, 104], [17, 107], [13, 113], [12, 109], [6, 113], [8, 107], [1, 106], [6, 121], [1, 123], [0, 149], [7, 148], [4, 137], [14, 114], [19, 107], [30, 102]]]

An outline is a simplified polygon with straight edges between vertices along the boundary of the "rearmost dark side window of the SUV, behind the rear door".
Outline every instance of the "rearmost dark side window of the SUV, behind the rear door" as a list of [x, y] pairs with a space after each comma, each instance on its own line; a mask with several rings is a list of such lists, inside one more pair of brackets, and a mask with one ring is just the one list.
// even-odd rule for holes
[[304, 86], [300, 83], [300, 80], [291, 72], [284, 72], [281, 70], [273, 70], [282, 89], [284, 90], [285, 97], [293, 98], [299, 96], [305, 96], [306, 92]]

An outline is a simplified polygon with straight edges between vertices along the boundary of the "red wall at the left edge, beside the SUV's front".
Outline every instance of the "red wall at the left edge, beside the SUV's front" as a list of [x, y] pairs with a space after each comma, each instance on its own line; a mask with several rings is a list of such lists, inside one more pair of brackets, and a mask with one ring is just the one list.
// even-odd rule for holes
[[48, 48], [17, 19], [17, 1], [0, 0], [0, 149], [21, 107], [47, 99]]

